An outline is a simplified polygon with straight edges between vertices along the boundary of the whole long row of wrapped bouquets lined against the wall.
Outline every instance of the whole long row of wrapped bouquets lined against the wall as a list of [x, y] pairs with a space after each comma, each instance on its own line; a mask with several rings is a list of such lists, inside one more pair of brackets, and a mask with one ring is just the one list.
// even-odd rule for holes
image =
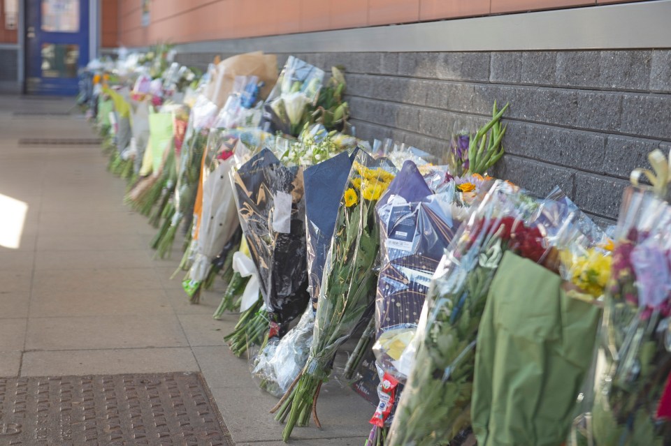
[[317, 398], [335, 378], [376, 406], [367, 445], [670, 444], [661, 152], [604, 228], [558, 188], [486, 174], [507, 105], [446, 123], [431, 156], [356, 138], [343, 67], [255, 52], [197, 73], [168, 51], [98, 61], [80, 103], [156, 257], [182, 254], [185, 298], [225, 285], [223, 341], [280, 398], [285, 440], [329, 423]]

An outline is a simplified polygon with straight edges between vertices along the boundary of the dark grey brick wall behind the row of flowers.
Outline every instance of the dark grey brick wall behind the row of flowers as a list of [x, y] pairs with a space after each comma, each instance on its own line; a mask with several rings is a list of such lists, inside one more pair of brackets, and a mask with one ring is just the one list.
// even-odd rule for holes
[[[647, 153], [671, 147], [671, 50], [295, 55], [345, 66], [357, 136], [439, 157], [456, 120], [475, 127], [510, 102], [493, 174], [538, 195], [558, 184], [598, 220], [616, 218]], [[214, 54], [179, 57], [203, 66]]]

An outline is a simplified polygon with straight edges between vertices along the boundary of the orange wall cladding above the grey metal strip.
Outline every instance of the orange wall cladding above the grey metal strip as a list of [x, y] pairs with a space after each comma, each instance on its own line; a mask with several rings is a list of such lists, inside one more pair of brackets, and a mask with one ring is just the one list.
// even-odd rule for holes
[[134, 47], [644, 0], [151, 0], [148, 27], [141, 0], [103, 3], [117, 1], [118, 42]]

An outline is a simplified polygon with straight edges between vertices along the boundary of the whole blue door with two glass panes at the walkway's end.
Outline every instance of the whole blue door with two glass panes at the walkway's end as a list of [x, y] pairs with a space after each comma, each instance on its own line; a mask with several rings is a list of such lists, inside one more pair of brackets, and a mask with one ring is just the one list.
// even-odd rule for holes
[[25, 5], [26, 92], [77, 94], [78, 69], [89, 61], [89, 0], [26, 0]]

